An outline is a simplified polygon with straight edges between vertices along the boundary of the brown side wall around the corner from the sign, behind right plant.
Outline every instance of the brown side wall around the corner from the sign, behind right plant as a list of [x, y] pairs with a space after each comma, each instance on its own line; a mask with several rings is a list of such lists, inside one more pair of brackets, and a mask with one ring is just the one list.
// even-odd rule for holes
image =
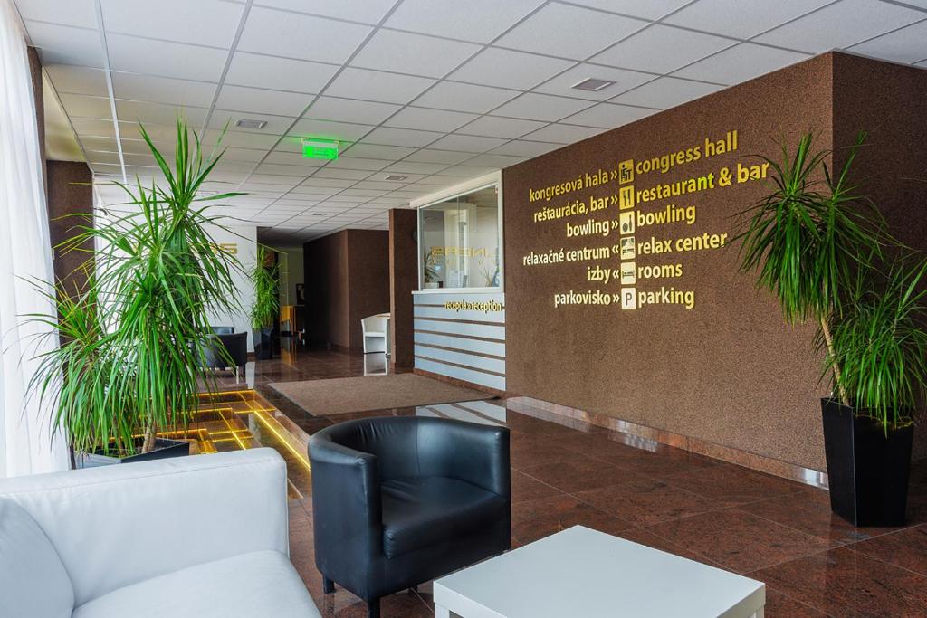
[[[854, 162], [860, 193], [883, 211], [903, 243], [927, 251], [927, 70], [834, 55], [835, 155], [867, 132]], [[917, 425], [915, 457], [927, 457], [927, 419]]]

